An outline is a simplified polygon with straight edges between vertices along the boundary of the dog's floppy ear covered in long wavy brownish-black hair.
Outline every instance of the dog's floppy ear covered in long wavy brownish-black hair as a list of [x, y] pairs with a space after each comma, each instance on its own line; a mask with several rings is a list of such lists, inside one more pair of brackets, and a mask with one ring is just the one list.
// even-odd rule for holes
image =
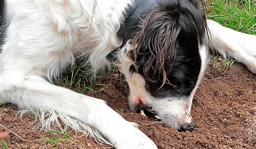
[[151, 82], [161, 79], [161, 87], [172, 70], [175, 49], [178, 48], [179, 16], [179, 10], [167, 6], [148, 12], [142, 30], [133, 39], [134, 50], [128, 55], [135, 62], [133, 68], [142, 70]]

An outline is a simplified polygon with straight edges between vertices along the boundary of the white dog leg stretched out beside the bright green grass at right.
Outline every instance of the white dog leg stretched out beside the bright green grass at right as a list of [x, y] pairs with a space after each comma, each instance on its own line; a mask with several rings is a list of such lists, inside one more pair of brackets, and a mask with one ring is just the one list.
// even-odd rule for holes
[[219, 23], [207, 20], [210, 30], [210, 49], [218, 51], [224, 58], [232, 57], [244, 63], [256, 73], [256, 36], [225, 28]]

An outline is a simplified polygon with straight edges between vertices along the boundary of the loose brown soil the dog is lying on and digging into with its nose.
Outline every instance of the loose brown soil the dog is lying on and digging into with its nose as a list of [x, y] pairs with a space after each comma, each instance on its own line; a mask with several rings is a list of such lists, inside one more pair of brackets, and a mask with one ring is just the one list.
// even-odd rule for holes
[[[210, 66], [194, 97], [192, 117], [197, 128], [192, 132], [178, 132], [153, 118], [130, 112], [126, 99], [128, 88], [122, 80], [105, 78], [104, 84], [109, 84], [105, 90], [89, 95], [104, 99], [125, 119], [138, 123], [140, 130], [159, 148], [255, 147], [255, 80], [255, 75], [238, 63], [226, 71], [218, 65]], [[4, 139], [9, 147], [111, 147], [90, 138], [74, 137], [72, 132], [73, 141], [47, 143], [45, 138], [56, 138], [56, 135], [34, 128], [36, 124], [32, 124], [29, 116], [23, 120], [15, 118], [16, 111], [15, 106], [0, 108], [0, 124], [24, 139], [10, 133]], [[0, 133], [4, 131], [0, 127]]]

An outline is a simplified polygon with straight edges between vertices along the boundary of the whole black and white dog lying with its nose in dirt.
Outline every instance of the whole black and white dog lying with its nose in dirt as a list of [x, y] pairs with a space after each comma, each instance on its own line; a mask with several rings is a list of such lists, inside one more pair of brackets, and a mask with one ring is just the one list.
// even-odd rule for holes
[[51, 83], [78, 56], [95, 72], [109, 62], [119, 68], [131, 110], [149, 106], [166, 126], [188, 131], [208, 49], [256, 73], [256, 37], [207, 20], [199, 0], [0, 2], [0, 104], [36, 113], [45, 129], [60, 119], [116, 147], [156, 148], [103, 100]]

